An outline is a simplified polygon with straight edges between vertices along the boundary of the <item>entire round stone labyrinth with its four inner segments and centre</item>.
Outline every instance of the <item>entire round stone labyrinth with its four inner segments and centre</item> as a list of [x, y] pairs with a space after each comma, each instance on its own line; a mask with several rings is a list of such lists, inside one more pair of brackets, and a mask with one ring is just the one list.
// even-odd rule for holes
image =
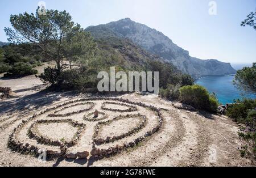
[[[97, 112], [97, 116], [96, 116]], [[159, 131], [163, 118], [152, 105], [119, 98], [68, 101], [23, 118], [9, 147], [47, 158], [108, 158], [133, 148]]]

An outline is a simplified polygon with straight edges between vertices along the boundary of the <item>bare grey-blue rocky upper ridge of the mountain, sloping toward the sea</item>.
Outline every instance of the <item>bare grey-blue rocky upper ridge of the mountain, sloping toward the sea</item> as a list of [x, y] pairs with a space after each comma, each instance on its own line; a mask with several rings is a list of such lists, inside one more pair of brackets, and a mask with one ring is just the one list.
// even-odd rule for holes
[[200, 60], [189, 56], [187, 50], [174, 44], [162, 32], [144, 24], [136, 23], [129, 18], [100, 26], [91, 26], [86, 30], [90, 31], [94, 37], [118, 36], [129, 39], [148, 52], [158, 55], [162, 61], [174, 64], [178, 69], [190, 74], [193, 78], [236, 73], [230, 63], [217, 60]]

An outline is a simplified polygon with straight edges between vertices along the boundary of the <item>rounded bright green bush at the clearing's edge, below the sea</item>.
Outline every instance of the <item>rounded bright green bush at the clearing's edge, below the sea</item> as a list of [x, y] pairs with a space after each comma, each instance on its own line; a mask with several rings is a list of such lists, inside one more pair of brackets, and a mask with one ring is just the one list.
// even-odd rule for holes
[[209, 112], [216, 112], [218, 101], [214, 95], [199, 85], [184, 86], [180, 88], [180, 99], [185, 104], [190, 104], [197, 109], [204, 109]]

